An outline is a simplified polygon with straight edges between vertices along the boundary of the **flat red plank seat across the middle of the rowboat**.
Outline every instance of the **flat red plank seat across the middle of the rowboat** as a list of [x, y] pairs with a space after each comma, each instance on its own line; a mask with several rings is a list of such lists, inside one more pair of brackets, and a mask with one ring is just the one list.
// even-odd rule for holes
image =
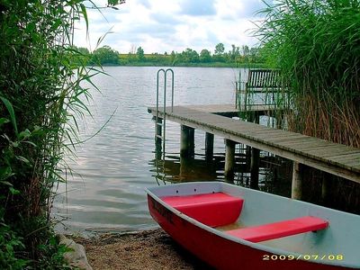
[[250, 242], [261, 242], [275, 238], [284, 238], [303, 232], [326, 229], [329, 225], [327, 220], [317, 217], [305, 216], [293, 220], [284, 220], [265, 225], [251, 226], [242, 229], [228, 230], [231, 236], [242, 238]]

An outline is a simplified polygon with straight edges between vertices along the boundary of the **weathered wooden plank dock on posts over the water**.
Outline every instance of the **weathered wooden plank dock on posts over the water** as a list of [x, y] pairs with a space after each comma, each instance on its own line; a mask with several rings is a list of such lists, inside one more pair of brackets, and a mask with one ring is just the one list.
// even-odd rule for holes
[[[253, 108], [255, 112], [269, 111], [268, 106]], [[270, 108], [271, 109], [271, 108]], [[148, 112], [156, 115], [156, 108]], [[183, 128], [204, 130], [252, 148], [261, 149], [276, 156], [294, 161], [293, 193], [299, 189], [301, 165], [311, 166], [321, 171], [360, 183], [360, 148], [350, 148], [323, 139], [316, 139], [286, 130], [276, 130], [256, 123], [239, 121], [229, 117], [238, 115], [233, 104], [205, 106], [174, 106], [159, 108], [158, 117], [180, 123]], [[224, 117], [228, 116], [228, 117]], [[227, 144], [227, 151], [233, 148]], [[227, 154], [228, 155], [228, 154]], [[231, 157], [230, 157], [231, 159]], [[228, 161], [226, 161], [228, 162]]]

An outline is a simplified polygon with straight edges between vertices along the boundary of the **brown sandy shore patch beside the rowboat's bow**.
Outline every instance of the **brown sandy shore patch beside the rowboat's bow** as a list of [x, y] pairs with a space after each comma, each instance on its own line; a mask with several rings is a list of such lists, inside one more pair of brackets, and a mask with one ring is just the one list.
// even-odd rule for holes
[[211, 269], [179, 247], [162, 229], [74, 238], [94, 270]]

